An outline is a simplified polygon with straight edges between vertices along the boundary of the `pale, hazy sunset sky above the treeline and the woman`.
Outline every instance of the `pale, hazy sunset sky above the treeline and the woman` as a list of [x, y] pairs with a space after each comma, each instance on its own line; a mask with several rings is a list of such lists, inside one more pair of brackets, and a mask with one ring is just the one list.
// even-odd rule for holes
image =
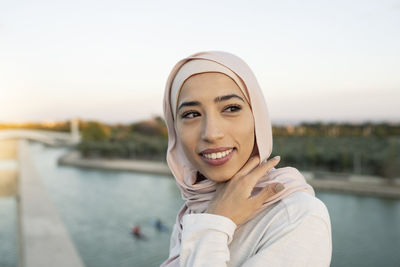
[[207, 50], [249, 64], [274, 123], [400, 121], [400, 0], [0, 0], [0, 123], [162, 115]]

